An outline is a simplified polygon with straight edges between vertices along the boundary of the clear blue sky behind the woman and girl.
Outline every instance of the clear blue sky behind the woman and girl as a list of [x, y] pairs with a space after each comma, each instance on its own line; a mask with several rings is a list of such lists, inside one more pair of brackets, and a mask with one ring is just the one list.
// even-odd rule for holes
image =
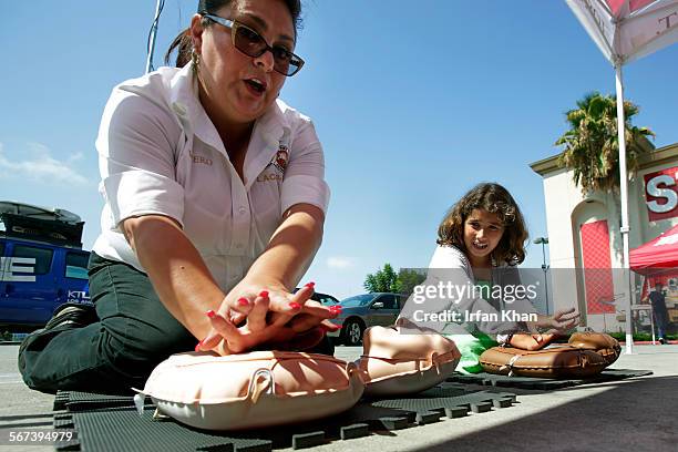
[[[156, 66], [196, 0], [166, 0]], [[306, 280], [342, 298], [389, 261], [425, 267], [446, 209], [481, 181], [517, 198], [532, 237], [546, 234], [541, 177], [564, 112], [613, 93], [614, 71], [559, 0], [305, 1], [282, 97], [314, 119], [332, 199]], [[470, 8], [470, 9], [469, 9]], [[86, 222], [102, 199], [94, 140], [119, 82], [145, 69], [154, 0], [2, 2], [0, 199], [58, 206]], [[636, 125], [678, 142], [678, 45], [625, 69]], [[542, 250], [527, 248], [525, 266]]]

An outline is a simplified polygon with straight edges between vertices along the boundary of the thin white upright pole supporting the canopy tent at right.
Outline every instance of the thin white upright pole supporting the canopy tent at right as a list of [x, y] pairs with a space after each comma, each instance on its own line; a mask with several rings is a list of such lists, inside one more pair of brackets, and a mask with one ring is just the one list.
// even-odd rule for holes
[[619, 140], [619, 188], [622, 192], [622, 242], [624, 243], [624, 261], [622, 263], [623, 271], [626, 278], [625, 288], [625, 308], [626, 308], [626, 355], [634, 352], [634, 333], [631, 326], [631, 287], [630, 287], [630, 270], [629, 270], [629, 250], [628, 250], [628, 176], [626, 174], [626, 127], [624, 121], [624, 82], [622, 80], [622, 63], [615, 64], [617, 75], [617, 136]]

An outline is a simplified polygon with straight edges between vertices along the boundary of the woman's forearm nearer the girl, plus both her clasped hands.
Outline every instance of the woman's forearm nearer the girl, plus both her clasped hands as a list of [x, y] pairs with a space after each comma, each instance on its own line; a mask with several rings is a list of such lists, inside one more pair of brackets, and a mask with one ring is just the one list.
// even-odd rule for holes
[[[300, 203], [289, 207], [247, 276], [210, 315], [212, 330], [196, 350], [218, 347], [222, 355], [238, 353], [274, 341], [278, 348], [295, 343], [299, 333], [316, 327], [336, 329], [327, 319], [339, 312], [309, 300], [312, 284], [297, 294], [288, 289], [310, 266], [322, 239], [323, 224], [325, 213], [315, 205]], [[314, 335], [309, 337], [312, 339], [318, 332]]]

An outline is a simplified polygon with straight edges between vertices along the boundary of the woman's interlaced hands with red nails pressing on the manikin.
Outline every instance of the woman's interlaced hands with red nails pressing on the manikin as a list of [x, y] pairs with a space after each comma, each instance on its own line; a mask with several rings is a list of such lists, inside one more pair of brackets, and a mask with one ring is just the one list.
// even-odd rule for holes
[[[266, 345], [278, 350], [314, 347], [326, 331], [339, 329], [328, 319], [337, 317], [340, 307], [327, 308], [311, 300], [312, 294], [312, 282], [290, 294], [279, 282], [255, 282], [246, 278], [226, 296], [218, 311], [207, 312], [213, 329], [196, 351], [229, 355]], [[234, 301], [238, 306], [249, 306], [248, 314], [233, 310]]]

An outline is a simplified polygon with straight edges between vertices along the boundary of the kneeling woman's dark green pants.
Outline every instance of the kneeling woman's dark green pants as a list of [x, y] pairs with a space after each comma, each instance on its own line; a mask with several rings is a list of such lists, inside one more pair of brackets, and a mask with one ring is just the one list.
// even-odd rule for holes
[[[99, 321], [29, 336], [19, 370], [31, 389], [130, 392], [170, 355], [195, 348], [197, 340], [165, 309], [144, 273], [92, 253], [89, 275]], [[326, 341], [312, 351], [333, 349]]]

